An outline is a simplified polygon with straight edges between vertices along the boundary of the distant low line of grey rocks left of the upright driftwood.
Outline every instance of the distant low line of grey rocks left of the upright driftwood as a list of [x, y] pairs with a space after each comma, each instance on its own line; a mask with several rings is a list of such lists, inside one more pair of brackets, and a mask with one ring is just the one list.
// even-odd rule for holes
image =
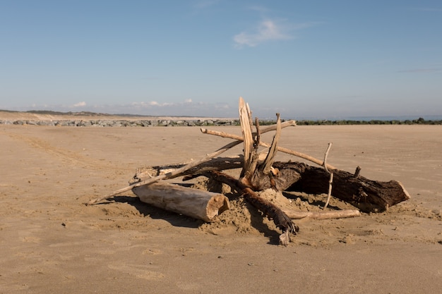
[[156, 126], [203, 126], [203, 125], [240, 125], [237, 119], [150, 119], [150, 120], [59, 120], [59, 121], [30, 121], [0, 120], [0, 125], [53, 125], [66, 127], [156, 127]]

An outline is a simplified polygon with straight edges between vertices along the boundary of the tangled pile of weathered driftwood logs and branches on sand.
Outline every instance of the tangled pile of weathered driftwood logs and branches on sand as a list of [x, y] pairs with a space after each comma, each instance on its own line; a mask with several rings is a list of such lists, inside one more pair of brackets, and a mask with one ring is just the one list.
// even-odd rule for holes
[[[205, 134], [228, 137], [234, 142], [207, 154], [202, 159], [191, 161], [189, 164], [170, 164], [138, 169], [129, 182], [129, 186], [114, 191], [104, 197], [91, 200], [88, 204], [96, 204], [109, 200], [114, 195], [132, 190], [142, 202], [155, 207], [167, 209], [203, 221], [213, 221], [218, 214], [229, 209], [229, 200], [225, 195], [215, 192], [185, 188], [180, 185], [166, 183], [165, 179], [183, 176], [189, 180], [205, 176], [220, 183], [229, 185], [232, 190], [239, 192], [246, 201], [259, 209], [282, 231], [280, 244], [287, 245], [289, 234], [299, 231], [292, 219], [311, 217], [315, 219], [341, 218], [359, 216], [359, 210], [340, 210], [328, 212], [293, 212], [283, 211], [272, 202], [263, 199], [257, 192], [271, 188], [276, 191], [300, 191], [309, 194], [327, 194], [349, 202], [362, 212], [382, 212], [399, 202], [410, 199], [402, 184], [395, 180], [380, 182], [369, 180], [359, 175], [360, 168], [354, 173], [336, 169], [327, 164], [328, 146], [323, 160], [315, 159], [307, 154], [278, 146], [282, 128], [294, 126], [294, 121], [280, 120], [266, 128], [260, 128], [258, 118], [253, 123], [249, 105], [239, 98], [239, 118], [241, 121], [242, 137], [227, 133], [201, 128]], [[255, 130], [253, 131], [253, 125]], [[261, 134], [275, 131], [271, 144], [261, 141]], [[219, 157], [222, 152], [243, 143], [244, 154], [239, 157]], [[263, 146], [265, 149], [259, 150]], [[277, 152], [309, 160], [320, 167], [309, 166], [295, 161], [275, 161]], [[227, 169], [241, 169], [239, 178], [229, 176]], [[328, 200], [325, 207], [328, 205]]]

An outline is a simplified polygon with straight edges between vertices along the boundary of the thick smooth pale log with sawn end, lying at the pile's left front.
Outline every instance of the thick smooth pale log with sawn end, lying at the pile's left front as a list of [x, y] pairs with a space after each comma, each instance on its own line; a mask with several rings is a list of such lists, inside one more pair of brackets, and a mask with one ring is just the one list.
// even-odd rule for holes
[[229, 209], [229, 199], [225, 195], [164, 182], [141, 185], [132, 192], [141, 202], [207, 222], [214, 221], [215, 216]]

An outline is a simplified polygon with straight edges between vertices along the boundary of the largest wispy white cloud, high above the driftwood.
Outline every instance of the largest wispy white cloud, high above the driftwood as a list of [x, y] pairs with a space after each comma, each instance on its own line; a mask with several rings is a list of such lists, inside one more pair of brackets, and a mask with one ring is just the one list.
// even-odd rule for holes
[[258, 23], [252, 32], [240, 32], [234, 35], [234, 47], [241, 49], [245, 46], [256, 47], [269, 41], [293, 39], [294, 31], [310, 27], [313, 23], [289, 24], [282, 20], [265, 19]]

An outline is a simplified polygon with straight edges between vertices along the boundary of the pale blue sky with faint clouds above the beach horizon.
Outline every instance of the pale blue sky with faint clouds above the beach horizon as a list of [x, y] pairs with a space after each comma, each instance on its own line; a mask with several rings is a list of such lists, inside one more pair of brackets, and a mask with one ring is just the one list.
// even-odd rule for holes
[[0, 0], [0, 109], [442, 115], [442, 1]]

